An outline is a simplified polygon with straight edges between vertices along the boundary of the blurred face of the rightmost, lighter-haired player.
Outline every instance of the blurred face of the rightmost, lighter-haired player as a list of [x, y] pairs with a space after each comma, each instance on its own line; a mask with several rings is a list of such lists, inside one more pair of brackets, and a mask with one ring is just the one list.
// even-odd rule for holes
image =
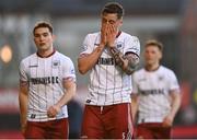
[[162, 52], [157, 46], [150, 45], [146, 47], [144, 50], [144, 61], [148, 66], [154, 66], [160, 63], [162, 58]]

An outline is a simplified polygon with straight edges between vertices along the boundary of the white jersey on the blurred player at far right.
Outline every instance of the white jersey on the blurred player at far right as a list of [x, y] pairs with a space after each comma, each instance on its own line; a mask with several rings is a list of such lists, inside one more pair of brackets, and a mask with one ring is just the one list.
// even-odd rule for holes
[[174, 72], [163, 66], [155, 71], [141, 69], [132, 80], [132, 93], [139, 95], [138, 122], [162, 122], [171, 109], [170, 91], [179, 91]]

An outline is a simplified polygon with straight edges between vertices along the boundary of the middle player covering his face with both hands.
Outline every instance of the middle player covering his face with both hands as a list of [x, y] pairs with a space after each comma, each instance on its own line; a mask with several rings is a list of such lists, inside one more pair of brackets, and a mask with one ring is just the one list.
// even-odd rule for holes
[[90, 70], [81, 138], [126, 139], [132, 136], [131, 73], [139, 63], [140, 44], [123, 31], [124, 9], [109, 2], [101, 13], [101, 31], [88, 34], [78, 58], [80, 73]]

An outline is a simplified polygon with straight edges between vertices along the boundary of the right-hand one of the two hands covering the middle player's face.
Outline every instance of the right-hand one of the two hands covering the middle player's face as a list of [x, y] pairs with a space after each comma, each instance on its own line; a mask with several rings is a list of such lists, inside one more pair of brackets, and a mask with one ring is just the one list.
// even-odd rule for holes
[[115, 46], [116, 35], [117, 35], [117, 30], [115, 28], [115, 26], [113, 24], [108, 24], [107, 36], [106, 36], [108, 47]]

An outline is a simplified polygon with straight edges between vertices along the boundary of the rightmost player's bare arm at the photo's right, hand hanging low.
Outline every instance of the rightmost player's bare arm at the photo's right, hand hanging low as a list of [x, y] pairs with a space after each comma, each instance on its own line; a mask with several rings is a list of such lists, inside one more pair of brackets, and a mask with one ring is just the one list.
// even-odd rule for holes
[[171, 112], [170, 114], [164, 118], [163, 126], [170, 127], [173, 125], [174, 117], [181, 106], [181, 94], [178, 90], [173, 90], [170, 93], [171, 96]]

